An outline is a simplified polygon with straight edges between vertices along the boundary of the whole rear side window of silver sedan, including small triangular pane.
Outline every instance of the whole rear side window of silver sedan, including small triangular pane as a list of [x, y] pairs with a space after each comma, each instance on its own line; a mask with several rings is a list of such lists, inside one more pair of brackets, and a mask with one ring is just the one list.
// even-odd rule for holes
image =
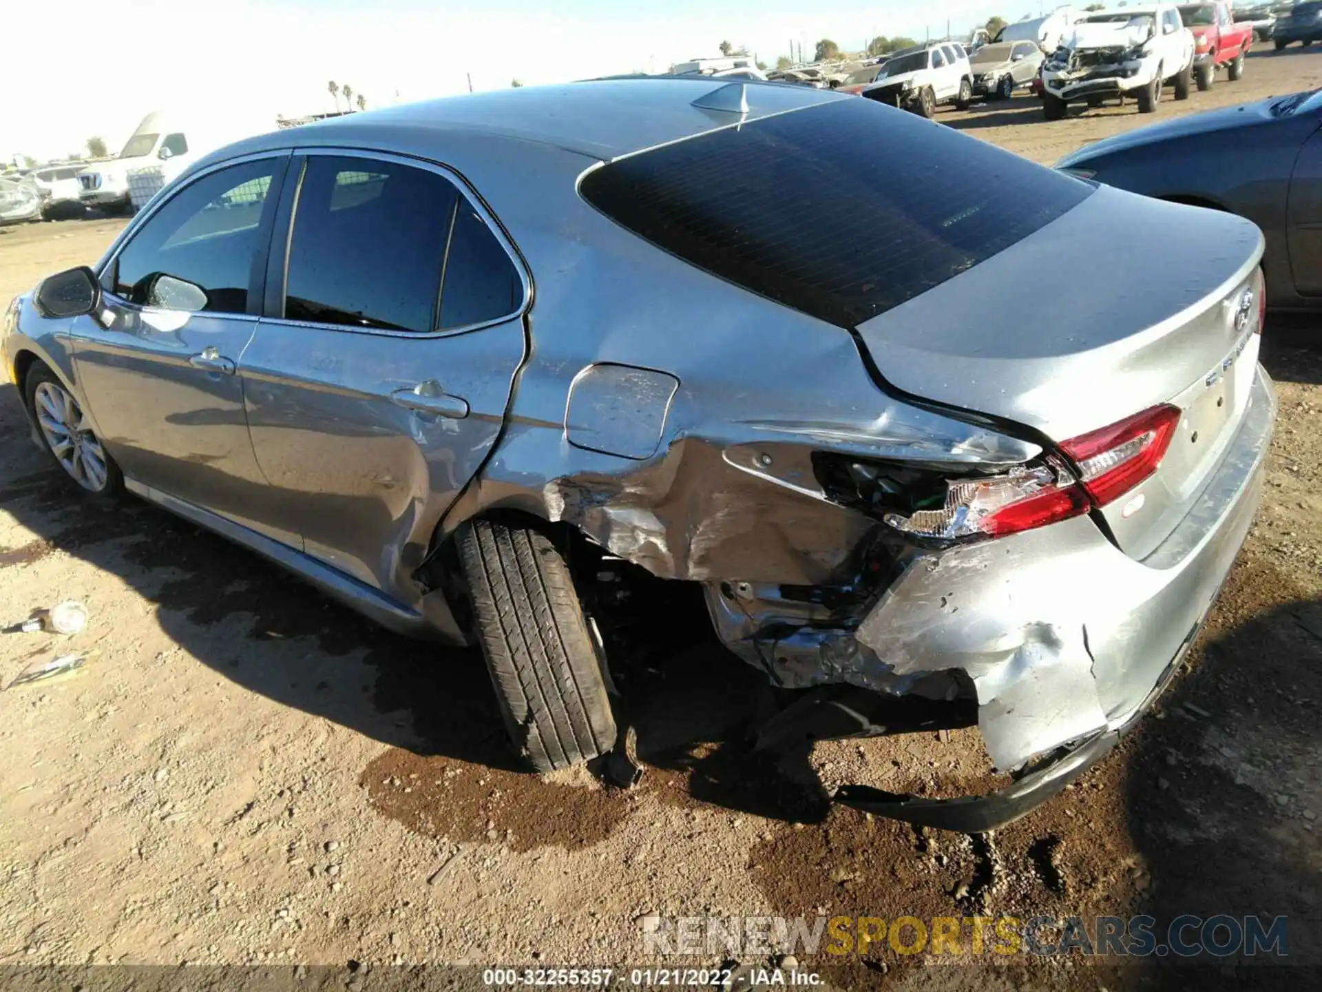
[[290, 320], [424, 333], [522, 304], [513, 262], [453, 184], [369, 159], [308, 160], [287, 271]]

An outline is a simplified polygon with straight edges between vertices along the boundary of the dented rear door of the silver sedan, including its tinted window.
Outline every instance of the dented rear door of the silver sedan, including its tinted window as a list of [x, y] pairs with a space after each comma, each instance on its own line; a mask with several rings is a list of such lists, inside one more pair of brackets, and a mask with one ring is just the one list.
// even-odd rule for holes
[[504, 423], [530, 283], [439, 165], [309, 151], [286, 201], [243, 360], [256, 459], [308, 554], [406, 600]]

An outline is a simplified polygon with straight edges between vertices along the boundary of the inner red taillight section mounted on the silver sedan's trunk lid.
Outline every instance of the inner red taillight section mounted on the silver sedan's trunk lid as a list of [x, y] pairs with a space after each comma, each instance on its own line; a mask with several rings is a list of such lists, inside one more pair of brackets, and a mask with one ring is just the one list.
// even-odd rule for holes
[[1179, 407], [1166, 403], [1060, 447], [1077, 462], [1083, 487], [1105, 507], [1157, 471], [1177, 423]]

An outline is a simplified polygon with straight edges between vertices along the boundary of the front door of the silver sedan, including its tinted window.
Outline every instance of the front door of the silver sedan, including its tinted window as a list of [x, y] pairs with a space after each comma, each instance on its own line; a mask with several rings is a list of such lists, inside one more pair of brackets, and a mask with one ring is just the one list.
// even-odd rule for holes
[[79, 317], [74, 364], [126, 477], [242, 522], [267, 499], [237, 374], [288, 155], [204, 173], [139, 224]]

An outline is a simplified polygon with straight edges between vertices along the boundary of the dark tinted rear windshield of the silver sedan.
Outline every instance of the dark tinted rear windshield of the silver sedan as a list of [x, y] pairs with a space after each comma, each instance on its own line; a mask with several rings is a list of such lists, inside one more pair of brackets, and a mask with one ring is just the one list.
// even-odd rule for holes
[[590, 204], [658, 247], [847, 328], [1010, 247], [1092, 192], [857, 97], [631, 155], [582, 183]]

